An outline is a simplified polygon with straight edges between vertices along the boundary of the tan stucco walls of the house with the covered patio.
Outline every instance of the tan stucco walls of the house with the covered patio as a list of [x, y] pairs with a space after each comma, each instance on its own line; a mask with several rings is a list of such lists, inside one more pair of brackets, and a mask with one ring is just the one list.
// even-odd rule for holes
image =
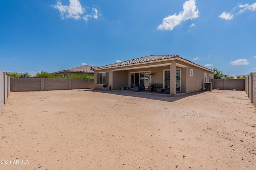
[[[204, 87], [204, 72], [207, 73], [207, 82], [209, 82], [208, 74], [210, 75], [214, 74], [211, 71], [205, 70], [203, 68], [199, 68], [198, 66], [195, 66], [186, 62], [176, 61], [176, 63], [177, 63], [176, 68], [181, 70], [180, 76], [181, 76], [182, 92], [195, 92], [195, 91], [201, 90], [201, 88]], [[152, 66], [154, 64], [158, 64], [158, 65], [164, 64], [164, 66]], [[169, 63], [170, 65], [165, 65], [165, 64], [168, 64], [168, 63], [166, 63], [166, 61], [162, 61], [158, 63], [147, 63], [147, 64], [138, 65], [139, 67], [145, 67], [145, 68], [136, 68], [137, 65], [136, 66], [128, 65], [128, 66], [122, 66], [118, 68], [94, 70], [94, 73], [95, 73], [94, 87], [95, 89], [102, 89], [102, 85], [98, 85], [96, 81], [97, 73], [100, 73], [100, 72], [109, 73], [109, 84], [107, 89], [109, 89], [110, 85], [112, 86], [112, 90], [118, 90], [120, 89], [120, 86], [130, 87], [130, 74], [132, 72], [150, 72], [150, 74], [152, 74], [152, 79], [151, 79], [152, 83], [160, 83], [160, 84], [163, 84], [164, 86], [164, 70], [170, 70], [171, 68], [171, 63]], [[180, 67], [179, 66], [180, 64], [182, 64], [183, 66]], [[190, 68], [193, 69], [193, 76], [190, 76]], [[122, 70], [122, 69], [127, 69], [127, 70]]]

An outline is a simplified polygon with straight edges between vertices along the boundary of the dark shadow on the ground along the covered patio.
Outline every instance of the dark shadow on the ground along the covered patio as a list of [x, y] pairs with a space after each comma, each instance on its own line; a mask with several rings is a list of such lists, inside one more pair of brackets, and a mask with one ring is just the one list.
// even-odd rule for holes
[[130, 96], [136, 98], [146, 98], [151, 100], [160, 100], [166, 102], [174, 102], [176, 100], [180, 100], [182, 98], [186, 98], [188, 96], [194, 96], [197, 94], [204, 93], [206, 91], [199, 91], [199, 92], [192, 92], [192, 93], [184, 93], [184, 94], [177, 94], [176, 96], [170, 96], [168, 94], [156, 94], [156, 93], [149, 93], [149, 92], [134, 92], [133, 90], [95, 90], [95, 89], [86, 89], [81, 91], [87, 92], [97, 92], [97, 93], [105, 93], [105, 94], [116, 94], [121, 96]]

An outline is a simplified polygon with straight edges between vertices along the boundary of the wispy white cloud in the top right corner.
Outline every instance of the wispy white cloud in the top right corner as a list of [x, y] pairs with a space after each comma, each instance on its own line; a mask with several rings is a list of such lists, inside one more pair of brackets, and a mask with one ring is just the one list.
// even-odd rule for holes
[[[239, 11], [238, 11], [239, 10]], [[234, 16], [237, 16], [239, 14], [244, 13], [245, 11], [255, 11], [256, 10], [256, 2], [254, 2], [253, 4], [249, 5], [249, 4], [237, 4], [237, 6], [235, 8], [233, 8], [230, 12], [222, 12], [222, 14], [220, 14], [220, 18], [224, 19], [224, 20], [232, 20]]]

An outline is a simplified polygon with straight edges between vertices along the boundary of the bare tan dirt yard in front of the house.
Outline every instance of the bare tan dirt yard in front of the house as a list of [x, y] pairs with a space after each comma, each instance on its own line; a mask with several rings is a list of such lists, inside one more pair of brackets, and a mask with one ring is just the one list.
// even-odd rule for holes
[[253, 170], [256, 109], [244, 91], [10, 92], [0, 159], [1, 170]]

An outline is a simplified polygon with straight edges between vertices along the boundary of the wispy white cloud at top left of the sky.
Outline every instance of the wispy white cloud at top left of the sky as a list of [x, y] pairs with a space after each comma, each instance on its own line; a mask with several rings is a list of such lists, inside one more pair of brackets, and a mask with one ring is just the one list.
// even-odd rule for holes
[[62, 2], [58, 0], [55, 5], [52, 5], [52, 7], [56, 8], [60, 12], [60, 17], [62, 20], [66, 18], [74, 18], [75, 20], [79, 20], [81, 17], [87, 22], [88, 18], [97, 19], [98, 18], [98, 10], [96, 8], [92, 8], [92, 15], [86, 15], [84, 16], [84, 13], [86, 12], [85, 8], [88, 7], [82, 7], [79, 0], [69, 0], [69, 5], [62, 5]]

